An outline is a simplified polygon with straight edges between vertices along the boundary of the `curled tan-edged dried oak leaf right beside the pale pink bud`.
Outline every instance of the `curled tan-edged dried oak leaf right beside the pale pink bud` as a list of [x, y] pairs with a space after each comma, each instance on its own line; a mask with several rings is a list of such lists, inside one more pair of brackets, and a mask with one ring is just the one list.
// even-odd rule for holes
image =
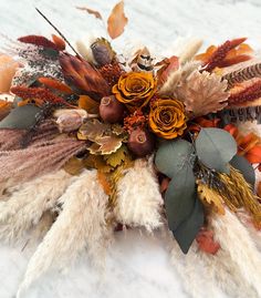
[[80, 127], [77, 138], [96, 142], [96, 140], [98, 140], [109, 130], [111, 130], [109, 124], [102, 123], [97, 119], [93, 119], [87, 121]]

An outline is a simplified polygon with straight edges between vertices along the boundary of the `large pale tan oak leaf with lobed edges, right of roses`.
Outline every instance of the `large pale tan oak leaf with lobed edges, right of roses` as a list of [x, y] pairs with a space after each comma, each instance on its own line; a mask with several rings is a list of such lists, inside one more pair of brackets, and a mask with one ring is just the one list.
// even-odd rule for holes
[[225, 109], [229, 93], [227, 81], [215, 73], [194, 71], [176, 89], [176, 95], [194, 116], [216, 113]]

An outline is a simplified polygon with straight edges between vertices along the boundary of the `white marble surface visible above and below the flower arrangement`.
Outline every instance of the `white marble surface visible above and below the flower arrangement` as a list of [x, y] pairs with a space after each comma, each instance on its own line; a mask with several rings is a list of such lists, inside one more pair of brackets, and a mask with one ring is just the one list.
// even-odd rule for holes
[[[11, 38], [50, 34], [52, 29], [36, 14], [40, 8], [71, 41], [90, 34], [105, 34], [103, 24], [75, 6], [87, 6], [107, 17], [115, 0], [0, 0], [0, 31]], [[119, 50], [143, 43], [157, 53], [171, 53], [179, 37], [197, 37], [209, 43], [249, 37], [260, 48], [261, 2], [259, 0], [126, 0], [129, 24], [113, 42]], [[0, 41], [0, 43], [3, 41]], [[30, 298], [168, 298], [187, 297], [175, 268], [169, 266], [160, 237], [136, 232], [118, 234], [102, 276], [82, 258], [60, 275], [51, 273], [24, 297]], [[14, 297], [33, 249], [0, 246], [0, 298]], [[207, 296], [207, 292], [206, 292]], [[225, 297], [225, 296], [220, 296]], [[202, 297], [203, 298], [203, 297]]]

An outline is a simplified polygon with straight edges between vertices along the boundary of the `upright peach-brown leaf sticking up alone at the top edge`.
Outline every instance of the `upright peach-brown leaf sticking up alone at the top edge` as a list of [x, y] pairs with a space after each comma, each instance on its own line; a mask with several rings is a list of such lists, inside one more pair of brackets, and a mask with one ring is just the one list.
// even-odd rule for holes
[[119, 37], [128, 19], [124, 14], [124, 1], [118, 2], [112, 10], [107, 20], [107, 31], [112, 39]]

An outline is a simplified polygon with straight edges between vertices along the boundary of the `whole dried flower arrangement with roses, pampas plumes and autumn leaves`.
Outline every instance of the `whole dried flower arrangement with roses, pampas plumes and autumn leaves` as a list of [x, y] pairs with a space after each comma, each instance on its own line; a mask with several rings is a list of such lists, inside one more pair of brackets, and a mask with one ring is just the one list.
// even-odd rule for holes
[[[126, 23], [121, 1], [109, 37]], [[75, 50], [54, 29], [52, 40], [9, 41], [0, 60], [1, 92], [12, 99], [0, 101], [0, 238], [43, 235], [20, 292], [86, 245], [98, 264], [121, 227], [166, 226], [190, 254], [173, 240], [175, 261], [186, 267], [194, 254], [240, 285], [234, 291], [261, 295], [261, 138], [238, 129], [260, 123], [261, 64], [246, 39], [198, 55], [194, 42], [157, 62], [144, 48], [123, 62], [104, 38]]]

